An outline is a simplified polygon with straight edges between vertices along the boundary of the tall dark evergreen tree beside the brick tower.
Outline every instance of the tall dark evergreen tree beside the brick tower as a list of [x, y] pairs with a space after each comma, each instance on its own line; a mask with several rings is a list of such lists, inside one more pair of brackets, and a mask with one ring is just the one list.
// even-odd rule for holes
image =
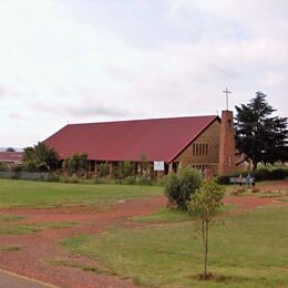
[[287, 161], [287, 117], [271, 116], [276, 111], [257, 92], [248, 104], [236, 106], [236, 147], [253, 161], [254, 169], [263, 162]]

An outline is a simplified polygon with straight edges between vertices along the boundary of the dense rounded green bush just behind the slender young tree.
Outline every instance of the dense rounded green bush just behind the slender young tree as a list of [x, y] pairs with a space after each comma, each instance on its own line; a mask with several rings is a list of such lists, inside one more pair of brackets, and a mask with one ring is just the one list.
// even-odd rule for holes
[[179, 169], [177, 174], [169, 174], [165, 178], [165, 195], [169, 206], [187, 210], [188, 202], [196, 189], [200, 187], [202, 177], [195, 169]]

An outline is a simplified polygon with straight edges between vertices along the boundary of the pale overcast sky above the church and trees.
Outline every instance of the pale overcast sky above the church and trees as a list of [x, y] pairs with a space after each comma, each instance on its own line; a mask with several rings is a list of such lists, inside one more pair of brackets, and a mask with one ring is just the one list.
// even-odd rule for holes
[[66, 123], [215, 115], [257, 91], [288, 116], [287, 0], [0, 0], [0, 146]]

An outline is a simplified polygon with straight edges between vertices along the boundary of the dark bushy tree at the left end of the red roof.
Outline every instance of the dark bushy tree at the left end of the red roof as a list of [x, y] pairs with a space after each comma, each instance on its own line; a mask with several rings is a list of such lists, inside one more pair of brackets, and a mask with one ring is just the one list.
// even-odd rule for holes
[[23, 161], [27, 167], [34, 171], [52, 171], [58, 167], [56, 152], [43, 142], [25, 147]]

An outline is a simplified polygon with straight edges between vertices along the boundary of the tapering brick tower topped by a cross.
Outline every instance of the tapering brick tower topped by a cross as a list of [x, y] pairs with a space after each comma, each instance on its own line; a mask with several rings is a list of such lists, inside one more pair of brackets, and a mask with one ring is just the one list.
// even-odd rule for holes
[[222, 112], [218, 174], [232, 174], [235, 173], [235, 133], [233, 112], [226, 110]]

